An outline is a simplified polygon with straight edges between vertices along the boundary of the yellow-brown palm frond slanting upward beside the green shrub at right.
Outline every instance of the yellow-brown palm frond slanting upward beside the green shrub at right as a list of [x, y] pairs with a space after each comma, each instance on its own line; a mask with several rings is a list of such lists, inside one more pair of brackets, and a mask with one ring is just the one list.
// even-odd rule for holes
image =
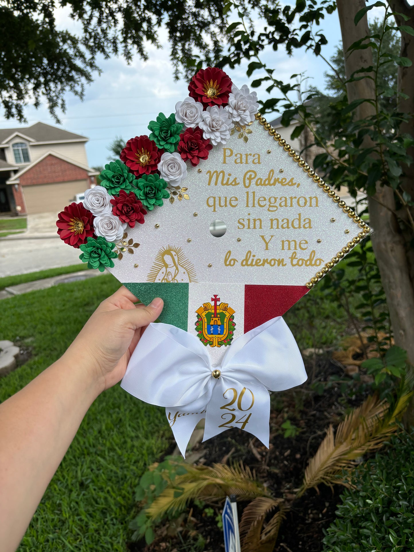
[[347, 486], [347, 478], [339, 475], [350, 470], [355, 460], [369, 450], [380, 448], [397, 431], [396, 418], [404, 412], [410, 397], [411, 393], [400, 396], [392, 408], [385, 401], [368, 397], [339, 424], [336, 436], [329, 426], [325, 439], [309, 460], [298, 496], [311, 487], [317, 489], [321, 483]]

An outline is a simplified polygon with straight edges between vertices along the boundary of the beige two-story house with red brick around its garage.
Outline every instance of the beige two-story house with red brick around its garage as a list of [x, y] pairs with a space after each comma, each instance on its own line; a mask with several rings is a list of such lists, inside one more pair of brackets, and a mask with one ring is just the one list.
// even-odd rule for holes
[[0, 213], [57, 213], [93, 186], [87, 141], [44, 123], [0, 129]]

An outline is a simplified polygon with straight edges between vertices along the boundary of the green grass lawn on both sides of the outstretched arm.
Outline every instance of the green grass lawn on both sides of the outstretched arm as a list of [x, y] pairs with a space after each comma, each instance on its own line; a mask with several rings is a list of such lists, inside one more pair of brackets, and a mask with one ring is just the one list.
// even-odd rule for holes
[[[104, 275], [3, 299], [0, 336], [30, 347], [32, 357], [0, 378], [0, 401], [59, 358], [118, 287]], [[134, 488], [169, 439], [163, 408], [140, 402], [119, 385], [105, 391], [89, 408], [19, 552], [125, 552]]]

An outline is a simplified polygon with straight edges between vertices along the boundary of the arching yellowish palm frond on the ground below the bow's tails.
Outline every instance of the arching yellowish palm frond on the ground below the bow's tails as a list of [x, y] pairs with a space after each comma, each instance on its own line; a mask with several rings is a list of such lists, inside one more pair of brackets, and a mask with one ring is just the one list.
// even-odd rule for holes
[[236, 495], [240, 500], [253, 500], [258, 496], [269, 495], [266, 487], [254, 479], [249, 468], [240, 465], [189, 466], [187, 473], [169, 480], [160, 496], [147, 508], [147, 516], [159, 521], [166, 512], [181, 511], [189, 501], [211, 500]]

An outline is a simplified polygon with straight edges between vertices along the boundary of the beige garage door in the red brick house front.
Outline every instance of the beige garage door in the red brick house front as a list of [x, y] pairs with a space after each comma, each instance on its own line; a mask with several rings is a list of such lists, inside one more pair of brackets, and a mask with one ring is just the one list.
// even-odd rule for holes
[[30, 184], [23, 186], [24, 200], [29, 215], [34, 213], [59, 213], [69, 205], [75, 194], [88, 188], [86, 180], [54, 182], [53, 184]]

